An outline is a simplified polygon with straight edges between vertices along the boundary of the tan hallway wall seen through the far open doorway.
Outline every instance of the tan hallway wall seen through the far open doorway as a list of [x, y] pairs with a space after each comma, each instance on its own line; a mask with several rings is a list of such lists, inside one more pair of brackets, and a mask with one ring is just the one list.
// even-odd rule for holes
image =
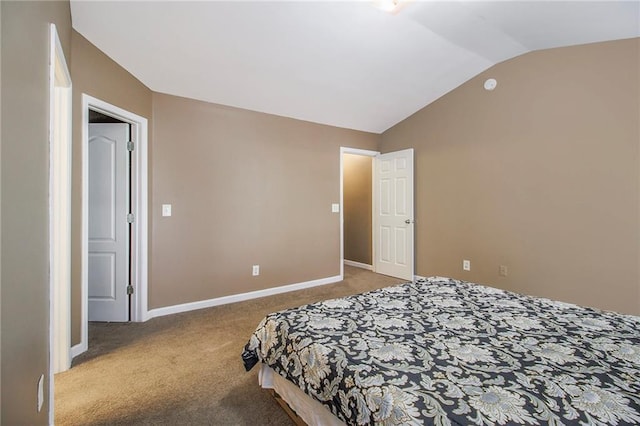
[[343, 155], [344, 258], [371, 265], [372, 157]]

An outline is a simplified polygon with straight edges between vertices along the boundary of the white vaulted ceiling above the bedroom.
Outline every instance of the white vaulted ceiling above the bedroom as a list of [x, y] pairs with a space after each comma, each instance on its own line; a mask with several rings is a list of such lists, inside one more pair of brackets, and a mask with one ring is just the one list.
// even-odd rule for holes
[[71, 0], [151, 90], [381, 133], [492, 65], [640, 36], [640, 1]]

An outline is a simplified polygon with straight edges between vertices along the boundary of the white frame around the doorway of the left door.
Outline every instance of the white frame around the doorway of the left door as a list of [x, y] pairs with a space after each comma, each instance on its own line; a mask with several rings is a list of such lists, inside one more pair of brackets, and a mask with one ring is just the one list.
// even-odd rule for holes
[[88, 348], [89, 338], [89, 109], [131, 124], [131, 139], [135, 143], [133, 151], [133, 176], [131, 190], [134, 192], [133, 204], [135, 223], [133, 232], [133, 297], [131, 320], [144, 322], [148, 317], [147, 280], [148, 280], [148, 121], [132, 112], [126, 111], [100, 99], [82, 94], [82, 313], [81, 342], [72, 348], [76, 356]]

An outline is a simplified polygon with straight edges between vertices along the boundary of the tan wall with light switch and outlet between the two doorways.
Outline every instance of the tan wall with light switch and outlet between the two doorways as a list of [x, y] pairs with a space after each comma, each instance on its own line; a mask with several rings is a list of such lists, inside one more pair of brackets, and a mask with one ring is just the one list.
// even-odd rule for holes
[[153, 123], [150, 308], [339, 274], [340, 146], [379, 135], [156, 93]]

